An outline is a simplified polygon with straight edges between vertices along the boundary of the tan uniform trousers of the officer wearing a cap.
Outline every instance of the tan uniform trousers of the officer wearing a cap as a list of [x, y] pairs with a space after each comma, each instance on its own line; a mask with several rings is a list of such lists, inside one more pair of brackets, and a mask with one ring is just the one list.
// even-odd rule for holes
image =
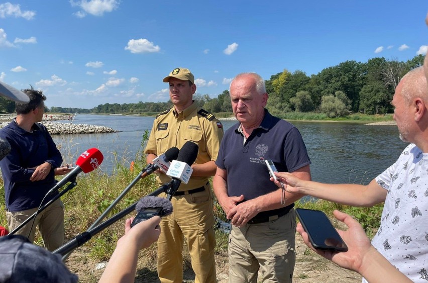
[[204, 187], [203, 192], [173, 197], [172, 214], [162, 218], [157, 263], [162, 283], [183, 282], [184, 239], [189, 248], [195, 283], [217, 282], [212, 192], [209, 184]]

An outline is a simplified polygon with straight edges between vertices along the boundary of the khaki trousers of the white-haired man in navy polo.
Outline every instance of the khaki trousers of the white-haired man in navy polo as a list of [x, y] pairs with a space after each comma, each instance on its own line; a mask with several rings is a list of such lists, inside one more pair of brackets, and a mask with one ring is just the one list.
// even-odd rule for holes
[[292, 282], [295, 253], [296, 214], [291, 209], [276, 220], [232, 225], [229, 235], [229, 282]]

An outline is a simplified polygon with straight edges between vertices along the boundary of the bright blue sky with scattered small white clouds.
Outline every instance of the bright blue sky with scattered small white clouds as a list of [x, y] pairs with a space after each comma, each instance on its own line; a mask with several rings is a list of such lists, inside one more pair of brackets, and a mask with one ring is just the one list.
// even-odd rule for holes
[[[189, 68], [217, 97], [238, 73], [307, 75], [346, 60], [405, 61], [428, 45], [426, 0], [0, 0], [0, 80], [46, 106], [167, 101]], [[423, 54], [425, 54], [423, 53]]]

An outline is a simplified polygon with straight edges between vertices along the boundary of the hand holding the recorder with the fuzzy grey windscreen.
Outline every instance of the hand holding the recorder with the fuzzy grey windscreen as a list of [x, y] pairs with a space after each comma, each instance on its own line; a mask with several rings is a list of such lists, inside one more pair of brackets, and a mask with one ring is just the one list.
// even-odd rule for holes
[[134, 217], [126, 220], [125, 235], [119, 239], [118, 244], [126, 242], [135, 244], [138, 249], [143, 249], [149, 247], [159, 238], [161, 232], [159, 216], [153, 216], [131, 228], [133, 220]]

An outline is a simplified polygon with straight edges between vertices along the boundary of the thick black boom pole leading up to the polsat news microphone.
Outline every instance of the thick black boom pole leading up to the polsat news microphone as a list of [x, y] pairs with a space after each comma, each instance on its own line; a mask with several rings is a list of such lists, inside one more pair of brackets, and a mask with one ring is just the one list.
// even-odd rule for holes
[[[172, 185], [173, 185], [172, 181], [168, 182], [168, 183], [160, 186], [156, 191], [147, 195], [146, 197], [157, 196], [160, 193], [166, 192]], [[57, 248], [56, 250], [54, 250], [52, 253], [60, 254], [62, 256], [68, 256], [68, 253], [71, 253], [74, 249], [80, 247], [81, 245], [83, 245], [84, 243], [89, 241], [92, 238], [92, 236], [96, 235], [97, 233], [99, 233], [102, 230], [104, 230], [105, 228], [109, 227], [110, 225], [112, 225], [116, 221], [122, 219], [127, 214], [134, 211], [137, 204], [138, 204], [138, 201], [135, 202], [134, 204], [132, 204], [131, 206], [127, 207], [123, 211], [118, 212], [117, 214], [115, 214], [111, 218], [105, 220], [101, 224], [99, 224], [99, 225], [97, 225], [91, 229], [88, 229], [83, 233], [78, 234], [73, 239], [71, 239], [70, 241], [68, 241], [64, 245], [62, 245], [59, 248]]]

